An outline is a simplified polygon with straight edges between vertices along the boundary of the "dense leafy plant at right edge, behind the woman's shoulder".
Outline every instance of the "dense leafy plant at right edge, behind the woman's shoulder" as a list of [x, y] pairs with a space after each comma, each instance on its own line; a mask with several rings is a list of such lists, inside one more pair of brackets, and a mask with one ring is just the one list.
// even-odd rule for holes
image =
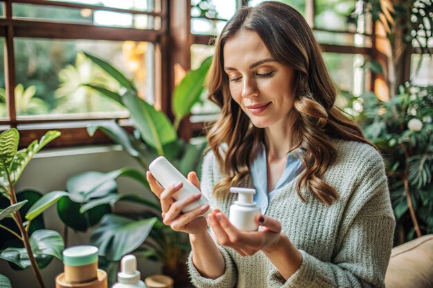
[[398, 242], [433, 233], [433, 86], [400, 86], [387, 102], [353, 98], [365, 136], [384, 155]]

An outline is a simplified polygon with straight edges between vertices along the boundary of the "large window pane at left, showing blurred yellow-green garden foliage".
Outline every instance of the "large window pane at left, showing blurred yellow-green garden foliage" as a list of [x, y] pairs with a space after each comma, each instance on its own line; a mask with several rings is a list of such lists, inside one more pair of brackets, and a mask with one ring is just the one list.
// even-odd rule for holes
[[[145, 42], [15, 39], [17, 116], [126, 117], [120, 104], [82, 86], [97, 83], [122, 93], [120, 84], [81, 51], [108, 61], [136, 83], [146, 97], [153, 68], [146, 66], [146, 55], [153, 46]], [[151, 81], [149, 81], [151, 82]], [[30, 101], [28, 101], [30, 99]], [[38, 117], [39, 118], [39, 117]]]

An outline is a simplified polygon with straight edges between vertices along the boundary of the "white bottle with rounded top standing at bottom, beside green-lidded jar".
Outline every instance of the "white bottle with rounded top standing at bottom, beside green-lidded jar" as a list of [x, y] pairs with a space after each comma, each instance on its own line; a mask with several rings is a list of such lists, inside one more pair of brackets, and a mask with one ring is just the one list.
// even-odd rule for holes
[[145, 282], [140, 280], [140, 271], [137, 270], [136, 256], [123, 256], [121, 270], [118, 273], [118, 282], [111, 288], [147, 288]]

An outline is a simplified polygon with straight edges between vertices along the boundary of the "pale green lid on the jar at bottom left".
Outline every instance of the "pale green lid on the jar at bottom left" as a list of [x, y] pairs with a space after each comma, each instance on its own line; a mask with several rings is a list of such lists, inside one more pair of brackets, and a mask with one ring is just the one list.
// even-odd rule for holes
[[98, 261], [98, 247], [78, 245], [64, 249], [63, 264], [68, 266], [88, 265]]

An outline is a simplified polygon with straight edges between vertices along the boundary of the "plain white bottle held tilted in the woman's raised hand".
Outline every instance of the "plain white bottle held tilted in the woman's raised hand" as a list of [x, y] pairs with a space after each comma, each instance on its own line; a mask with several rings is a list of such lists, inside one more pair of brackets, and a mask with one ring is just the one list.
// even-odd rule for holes
[[[149, 164], [149, 171], [154, 175], [156, 180], [163, 186], [165, 189], [167, 189], [169, 186], [174, 185], [178, 182], [182, 182], [183, 186], [182, 188], [174, 194], [174, 199], [181, 200], [184, 199], [192, 194], [200, 193], [200, 190], [197, 189], [196, 186], [191, 184], [185, 176], [182, 175], [176, 167], [170, 163], [164, 156], [160, 156], [156, 158], [154, 161]], [[209, 201], [207, 198], [205, 198], [205, 195], [201, 195], [201, 198], [197, 200], [196, 202], [193, 202], [191, 204], [188, 204], [182, 212], [189, 212], [197, 207], [200, 207], [203, 204], [207, 204]], [[203, 215], [206, 217], [210, 214], [211, 209], [208, 209]]]

